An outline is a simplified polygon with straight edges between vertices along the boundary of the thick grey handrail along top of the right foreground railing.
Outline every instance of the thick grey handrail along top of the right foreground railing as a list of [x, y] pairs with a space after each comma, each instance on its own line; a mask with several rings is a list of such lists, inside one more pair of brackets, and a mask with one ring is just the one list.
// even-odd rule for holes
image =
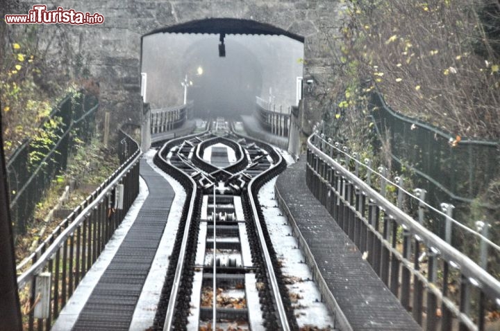
[[312, 134], [308, 138], [308, 148], [317, 156], [319, 156], [322, 161], [335, 168], [347, 181], [351, 182], [357, 186], [363, 193], [365, 193], [372, 201], [383, 208], [387, 215], [390, 215], [397, 223], [401, 224], [404, 229], [409, 231], [415, 237], [418, 237], [421, 242], [424, 242], [427, 247], [433, 249], [440, 253], [440, 255], [453, 265], [460, 267], [462, 274], [467, 276], [474, 283], [478, 284], [478, 287], [482, 291], [496, 301], [500, 305], [500, 281], [494, 276], [490, 275], [483, 268], [479, 267], [476, 262], [472, 261], [469, 257], [460, 253], [458, 249], [451, 246], [437, 235], [426, 229], [422, 224], [413, 220], [410, 215], [404, 213], [397, 206], [394, 206], [380, 193], [374, 190], [371, 186], [365, 183], [359, 177], [356, 177], [352, 172], [344, 168], [340, 163], [332, 159], [330, 156], [325, 154], [322, 150], [314, 145], [311, 141], [315, 134]]

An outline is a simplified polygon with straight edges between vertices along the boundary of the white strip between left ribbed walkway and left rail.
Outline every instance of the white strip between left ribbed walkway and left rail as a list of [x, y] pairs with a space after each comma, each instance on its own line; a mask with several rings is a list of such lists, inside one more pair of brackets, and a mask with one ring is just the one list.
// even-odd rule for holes
[[163, 236], [158, 244], [158, 250], [151, 264], [151, 269], [142, 287], [141, 295], [139, 296], [138, 304], [135, 306], [135, 311], [132, 316], [132, 322], [129, 330], [145, 330], [147, 327], [153, 325], [154, 316], [158, 301], [160, 301], [160, 294], [167, 274], [170, 255], [174, 248], [175, 237], [177, 234], [179, 220], [183, 211], [183, 205], [186, 199], [184, 188], [174, 178], [165, 174], [154, 163], [153, 157], [156, 150], [149, 150], [144, 153], [144, 159], [153, 170], [158, 172], [165, 178], [170, 186], [174, 189], [175, 196], [170, 207], [170, 212], [167, 218], [167, 225], [163, 231]]

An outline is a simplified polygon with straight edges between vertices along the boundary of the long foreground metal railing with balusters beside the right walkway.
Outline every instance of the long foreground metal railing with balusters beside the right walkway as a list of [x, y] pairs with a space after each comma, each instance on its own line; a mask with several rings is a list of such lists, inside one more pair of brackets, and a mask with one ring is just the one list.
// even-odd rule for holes
[[[306, 181], [385, 285], [426, 330], [490, 327], [487, 316], [500, 308], [500, 282], [488, 272], [488, 254], [498, 256], [500, 247], [469, 229], [469, 238], [480, 244], [472, 247], [478, 253], [467, 256], [464, 244], [451, 244], [452, 232], [463, 226], [449, 209], [435, 210], [446, 224], [442, 239], [422, 224], [426, 209], [433, 207], [418, 191], [409, 193], [401, 178], [391, 181], [383, 169], [373, 170], [369, 160], [348, 152], [339, 143], [310, 136]], [[410, 199], [419, 206], [417, 219], [406, 213]]]

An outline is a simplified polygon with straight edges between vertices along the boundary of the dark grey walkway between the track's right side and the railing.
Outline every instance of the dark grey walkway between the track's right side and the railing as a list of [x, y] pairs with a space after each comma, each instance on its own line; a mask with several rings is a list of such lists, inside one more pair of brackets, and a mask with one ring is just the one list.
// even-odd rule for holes
[[[306, 185], [306, 157], [276, 181], [319, 272], [353, 330], [422, 330]], [[289, 216], [290, 217], [290, 216]]]

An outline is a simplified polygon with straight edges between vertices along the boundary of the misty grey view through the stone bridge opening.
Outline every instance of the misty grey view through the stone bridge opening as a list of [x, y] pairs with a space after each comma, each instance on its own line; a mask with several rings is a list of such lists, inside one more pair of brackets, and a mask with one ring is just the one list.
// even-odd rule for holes
[[147, 73], [151, 108], [182, 105], [186, 75], [195, 116], [251, 114], [255, 97], [269, 100], [269, 91], [276, 107], [295, 105], [297, 77], [303, 70], [301, 42], [283, 36], [226, 35], [226, 57], [219, 57], [218, 44], [219, 35], [144, 37], [142, 72]]

